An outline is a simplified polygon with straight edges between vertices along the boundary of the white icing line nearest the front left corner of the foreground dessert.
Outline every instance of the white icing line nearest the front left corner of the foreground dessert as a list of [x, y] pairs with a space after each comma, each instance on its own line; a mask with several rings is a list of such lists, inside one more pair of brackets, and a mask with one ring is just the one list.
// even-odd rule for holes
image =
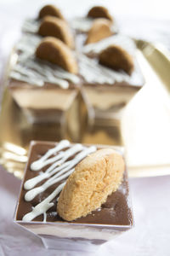
[[49, 208], [54, 206], [54, 203], [50, 203], [50, 201], [53, 201], [54, 198], [59, 194], [59, 192], [63, 189], [65, 186], [65, 183], [62, 183], [59, 185], [57, 189], [54, 189], [54, 192], [46, 199], [44, 199], [41, 203], [37, 204], [36, 207], [33, 208], [33, 210], [29, 213], [27, 213], [22, 220], [23, 221], [31, 221], [32, 219], [36, 218], [37, 216], [43, 214], [44, 212], [47, 212]]

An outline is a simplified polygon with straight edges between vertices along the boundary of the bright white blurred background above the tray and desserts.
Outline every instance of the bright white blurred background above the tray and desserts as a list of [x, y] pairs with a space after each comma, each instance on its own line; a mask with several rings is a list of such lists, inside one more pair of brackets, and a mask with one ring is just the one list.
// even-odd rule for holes
[[170, 49], [170, 16], [168, 0], [0, 0], [0, 68], [9, 50], [20, 37], [20, 27], [26, 17], [36, 17], [47, 3], [54, 3], [68, 18], [85, 15], [95, 4], [104, 4], [116, 17], [120, 31], [134, 38], [155, 40]]

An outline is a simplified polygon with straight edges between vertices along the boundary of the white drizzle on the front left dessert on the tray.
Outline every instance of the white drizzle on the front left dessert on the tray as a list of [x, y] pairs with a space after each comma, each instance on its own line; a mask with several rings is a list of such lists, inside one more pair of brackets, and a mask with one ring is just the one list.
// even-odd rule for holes
[[79, 83], [79, 78], [72, 73], [66, 72], [61, 67], [48, 61], [42, 61], [34, 56], [41, 37], [31, 34], [24, 35], [16, 45], [19, 52], [9, 77], [35, 86], [43, 86], [46, 82], [57, 84], [63, 89], [69, 87], [69, 82]]

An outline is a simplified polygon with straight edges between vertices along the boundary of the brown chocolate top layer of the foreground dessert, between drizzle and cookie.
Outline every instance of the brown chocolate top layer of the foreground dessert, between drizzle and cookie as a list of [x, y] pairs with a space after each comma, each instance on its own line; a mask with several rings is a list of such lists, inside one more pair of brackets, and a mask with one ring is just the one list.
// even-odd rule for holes
[[[31, 146], [30, 157], [26, 166], [24, 183], [31, 177], [36, 177], [38, 172], [32, 172], [30, 169], [31, 163], [45, 154], [49, 148], [54, 148], [57, 143], [36, 142]], [[65, 150], [68, 148], [65, 148]], [[47, 170], [48, 166], [42, 168], [40, 172]], [[62, 183], [63, 181], [59, 182]], [[44, 181], [42, 182], [44, 183]], [[38, 183], [37, 186], [42, 183]], [[26, 190], [22, 187], [20, 193], [20, 200], [16, 214], [16, 220], [22, 220], [23, 216], [31, 212], [32, 207], [35, 207], [39, 202], [44, 200], [54, 189], [57, 188], [59, 183], [55, 183], [43, 193], [37, 195], [31, 202], [25, 201]], [[102, 205], [101, 208], [94, 212], [89, 213], [86, 217], [78, 218], [73, 223], [81, 224], [111, 224], [111, 225], [131, 225], [133, 224], [132, 212], [128, 206], [128, 183], [127, 171], [124, 173], [122, 184], [116, 192], [112, 193]], [[65, 222], [56, 213], [57, 201], [54, 199], [54, 207], [51, 207], [47, 212], [47, 222]], [[43, 215], [34, 218], [33, 221], [43, 221]]]

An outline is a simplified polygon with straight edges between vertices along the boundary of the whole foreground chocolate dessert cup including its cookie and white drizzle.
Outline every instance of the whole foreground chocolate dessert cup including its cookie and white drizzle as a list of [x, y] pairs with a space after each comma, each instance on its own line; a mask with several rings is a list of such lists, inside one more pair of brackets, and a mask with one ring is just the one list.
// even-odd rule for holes
[[[95, 247], [111, 240], [133, 225], [124, 169], [121, 148], [71, 144], [66, 140], [31, 142], [15, 222], [41, 236], [49, 247], [59, 249], [68, 246], [67, 249], [87, 250], [87, 246]], [[83, 194], [79, 186], [80, 177], [87, 181], [83, 181], [87, 194], [86, 189]], [[72, 194], [71, 181], [78, 186]], [[68, 195], [78, 205], [73, 207]], [[82, 212], [77, 215], [80, 195], [91, 207], [87, 211], [88, 204], [82, 204], [82, 208], [78, 208]], [[59, 216], [65, 209], [74, 220], [66, 221], [64, 216]]]

